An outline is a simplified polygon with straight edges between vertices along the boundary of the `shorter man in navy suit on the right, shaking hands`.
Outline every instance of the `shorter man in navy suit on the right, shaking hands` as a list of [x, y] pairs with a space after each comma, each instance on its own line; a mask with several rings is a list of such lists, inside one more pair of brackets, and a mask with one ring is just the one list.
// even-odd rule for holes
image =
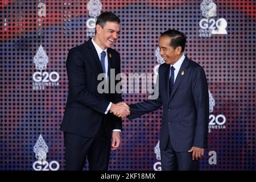
[[160, 132], [162, 170], [198, 170], [199, 159], [207, 147], [207, 78], [204, 69], [183, 54], [185, 43], [183, 33], [177, 30], [163, 32], [159, 48], [166, 63], [159, 67], [158, 98], [130, 105], [130, 119], [163, 106]]

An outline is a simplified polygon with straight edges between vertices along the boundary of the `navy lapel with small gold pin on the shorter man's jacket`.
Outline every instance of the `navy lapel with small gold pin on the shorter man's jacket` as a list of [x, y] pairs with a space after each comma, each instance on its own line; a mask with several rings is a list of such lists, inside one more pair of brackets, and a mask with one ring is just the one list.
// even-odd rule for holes
[[[177, 74], [176, 80], [174, 82], [174, 88], [172, 89], [171, 96], [169, 98], [169, 101], [171, 100], [172, 96], [174, 96], [174, 93], [176, 92], [177, 88], [179, 87], [181, 81], [184, 79], [184, 77], [187, 75], [187, 67], [188, 67], [188, 57], [186, 56], [183, 63], [181, 64], [179, 73]], [[183, 74], [181, 74], [183, 73]]]

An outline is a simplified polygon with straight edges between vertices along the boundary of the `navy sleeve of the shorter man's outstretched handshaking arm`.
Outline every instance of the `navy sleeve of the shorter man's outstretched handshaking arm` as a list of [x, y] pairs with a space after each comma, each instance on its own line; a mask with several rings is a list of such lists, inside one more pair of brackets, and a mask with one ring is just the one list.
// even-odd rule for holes
[[139, 102], [137, 104], [131, 104], [129, 119], [135, 119], [140, 117], [141, 115], [150, 113], [151, 111], [157, 110], [162, 106], [162, 99], [159, 92], [159, 75], [156, 79], [156, 84], [154, 88], [154, 96], [158, 96], [155, 99], [146, 100], [143, 102]]

